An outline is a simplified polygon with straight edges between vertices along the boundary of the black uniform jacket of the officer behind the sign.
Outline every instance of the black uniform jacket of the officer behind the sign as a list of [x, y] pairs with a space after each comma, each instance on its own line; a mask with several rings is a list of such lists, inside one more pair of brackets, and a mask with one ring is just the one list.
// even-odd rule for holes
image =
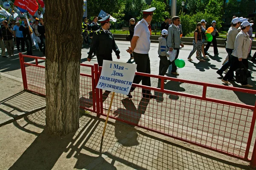
[[111, 55], [112, 50], [116, 53], [116, 56], [119, 56], [120, 51], [116, 45], [113, 34], [106, 30], [106, 33], [100, 28], [93, 34], [93, 39], [90, 46], [90, 51], [88, 58], [91, 59], [93, 51], [96, 48], [97, 55]]

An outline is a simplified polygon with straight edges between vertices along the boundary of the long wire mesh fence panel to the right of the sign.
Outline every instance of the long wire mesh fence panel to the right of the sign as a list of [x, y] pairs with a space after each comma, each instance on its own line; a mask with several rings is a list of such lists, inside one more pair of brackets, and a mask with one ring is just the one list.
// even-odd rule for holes
[[[155, 99], [143, 98], [141, 88], [136, 88], [133, 93], [132, 99], [122, 94], [115, 96], [110, 117], [247, 159], [245, 151], [250, 142], [253, 110], [177, 96], [172, 91], [151, 91], [157, 95]], [[110, 95], [103, 93], [102, 99], [103, 114], [106, 115]]]

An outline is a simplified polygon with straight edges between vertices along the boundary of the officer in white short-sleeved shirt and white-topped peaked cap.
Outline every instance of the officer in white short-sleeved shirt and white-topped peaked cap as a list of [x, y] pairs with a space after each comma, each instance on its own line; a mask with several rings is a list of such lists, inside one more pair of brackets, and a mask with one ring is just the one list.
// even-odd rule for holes
[[[150, 59], [148, 51], [150, 49], [150, 31], [148, 29], [148, 23], [151, 22], [153, 17], [153, 11], [155, 7], [146, 9], [143, 11], [143, 19], [140, 20], [134, 28], [134, 36], [131, 40], [131, 47], [126, 50], [128, 53], [133, 53], [135, 63], [137, 64], [137, 71], [141, 73], [150, 74]], [[142, 80], [142, 85], [151, 86], [150, 77], [144, 77], [135, 75], [133, 83], [139, 84]], [[131, 92], [135, 87], [131, 87], [128, 98], [132, 98]], [[145, 98], [154, 98], [151, 95], [150, 90], [142, 89], [142, 95]]]

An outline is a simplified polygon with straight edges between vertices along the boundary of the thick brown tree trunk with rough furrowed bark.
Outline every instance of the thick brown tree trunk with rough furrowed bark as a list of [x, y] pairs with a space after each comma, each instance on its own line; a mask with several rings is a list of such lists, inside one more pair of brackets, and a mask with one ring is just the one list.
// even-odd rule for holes
[[44, 0], [46, 127], [63, 136], [79, 128], [83, 0]]

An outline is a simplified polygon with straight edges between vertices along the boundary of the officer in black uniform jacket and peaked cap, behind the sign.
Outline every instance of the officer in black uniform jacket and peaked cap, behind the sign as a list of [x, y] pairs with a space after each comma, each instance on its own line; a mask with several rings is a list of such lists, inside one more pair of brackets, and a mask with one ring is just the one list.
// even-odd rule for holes
[[99, 66], [102, 66], [103, 60], [113, 61], [112, 50], [116, 53], [117, 59], [120, 58], [120, 51], [116, 45], [113, 34], [108, 31], [108, 29], [110, 28], [109, 18], [110, 15], [99, 20], [102, 27], [94, 32], [90, 51], [88, 52], [89, 55], [87, 57], [87, 61], [90, 62], [93, 51], [97, 51], [96, 56]]

